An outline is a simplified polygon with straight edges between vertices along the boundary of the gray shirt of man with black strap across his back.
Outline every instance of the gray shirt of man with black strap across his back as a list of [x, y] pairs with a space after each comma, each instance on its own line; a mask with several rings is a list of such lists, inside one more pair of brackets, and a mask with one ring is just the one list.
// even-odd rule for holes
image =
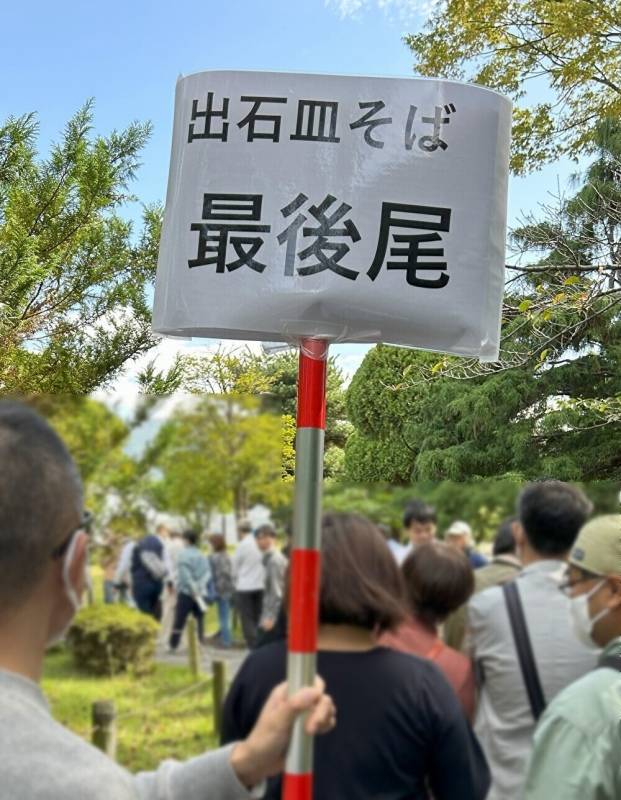
[[[546, 702], [595, 667], [597, 651], [574, 636], [569, 600], [559, 589], [563, 561], [530, 564], [516, 579]], [[487, 800], [519, 800], [535, 721], [500, 587], [486, 589], [468, 606], [469, 646], [482, 685], [475, 732], [492, 771]]]

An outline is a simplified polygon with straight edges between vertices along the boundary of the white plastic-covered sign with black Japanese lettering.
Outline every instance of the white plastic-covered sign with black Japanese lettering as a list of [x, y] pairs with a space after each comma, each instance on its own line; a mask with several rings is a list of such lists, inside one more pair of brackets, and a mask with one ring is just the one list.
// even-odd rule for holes
[[154, 329], [497, 358], [510, 128], [453, 81], [181, 78]]

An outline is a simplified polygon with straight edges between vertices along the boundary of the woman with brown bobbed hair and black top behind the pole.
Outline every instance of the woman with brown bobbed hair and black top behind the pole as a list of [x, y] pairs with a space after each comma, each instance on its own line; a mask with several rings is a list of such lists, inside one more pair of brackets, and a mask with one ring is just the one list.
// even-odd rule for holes
[[[489, 770], [462, 708], [431, 661], [378, 645], [403, 618], [403, 581], [381, 534], [355, 514], [322, 519], [317, 667], [339, 709], [315, 744], [317, 800], [484, 800]], [[254, 650], [226, 698], [222, 741], [252, 730], [287, 669], [287, 644]], [[270, 780], [265, 800], [280, 800]]]

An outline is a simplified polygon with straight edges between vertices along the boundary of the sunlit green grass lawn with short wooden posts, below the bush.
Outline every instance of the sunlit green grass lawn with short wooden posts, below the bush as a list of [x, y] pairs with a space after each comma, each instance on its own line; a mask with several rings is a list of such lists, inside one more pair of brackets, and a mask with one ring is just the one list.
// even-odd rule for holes
[[192, 688], [196, 680], [188, 669], [164, 664], [146, 677], [93, 677], [80, 673], [61, 649], [46, 657], [43, 691], [54, 717], [89, 741], [92, 703], [113, 700], [119, 716], [117, 760], [137, 772], [154, 769], [165, 758], [185, 759], [217, 747], [211, 680], [200, 680], [207, 682]]

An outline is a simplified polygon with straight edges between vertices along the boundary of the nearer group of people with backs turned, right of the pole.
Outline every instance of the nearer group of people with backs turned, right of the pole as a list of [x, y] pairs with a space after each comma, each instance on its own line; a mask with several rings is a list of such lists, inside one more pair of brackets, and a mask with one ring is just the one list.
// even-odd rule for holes
[[[438, 539], [420, 500], [403, 536], [324, 516], [318, 670], [339, 724], [315, 797], [621, 797], [621, 515], [591, 515], [572, 485], [528, 484], [489, 559], [462, 520]], [[236, 676], [224, 743], [284, 678], [285, 636]]]

